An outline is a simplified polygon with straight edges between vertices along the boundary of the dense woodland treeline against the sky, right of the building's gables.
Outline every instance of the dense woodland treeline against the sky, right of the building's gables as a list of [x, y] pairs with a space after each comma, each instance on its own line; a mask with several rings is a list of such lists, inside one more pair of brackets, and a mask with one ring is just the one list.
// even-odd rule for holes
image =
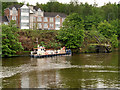
[[[96, 3], [90, 5], [88, 3], [80, 3], [77, 0], [72, 0], [69, 4], [59, 3], [57, 1], [49, 1], [46, 4], [36, 3], [43, 11], [46, 12], [61, 12], [66, 13], [67, 15], [71, 13], [78, 13], [85, 20], [86, 16], [93, 16], [95, 22], [103, 20], [115, 20], [118, 18], [118, 5], [116, 3], [107, 3], [102, 7], [97, 7]], [[94, 21], [94, 19], [92, 20]]]

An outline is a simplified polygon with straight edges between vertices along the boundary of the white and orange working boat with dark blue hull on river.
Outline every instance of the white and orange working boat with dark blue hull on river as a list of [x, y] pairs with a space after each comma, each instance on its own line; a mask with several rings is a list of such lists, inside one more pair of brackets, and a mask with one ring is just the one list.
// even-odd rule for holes
[[71, 50], [66, 49], [65, 47], [61, 48], [60, 50], [47, 50], [43, 46], [39, 46], [34, 48], [34, 51], [31, 51], [31, 57], [33, 58], [44, 58], [44, 57], [53, 57], [53, 56], [62, 56], [62, 55], [69, 55], [71, 56]]

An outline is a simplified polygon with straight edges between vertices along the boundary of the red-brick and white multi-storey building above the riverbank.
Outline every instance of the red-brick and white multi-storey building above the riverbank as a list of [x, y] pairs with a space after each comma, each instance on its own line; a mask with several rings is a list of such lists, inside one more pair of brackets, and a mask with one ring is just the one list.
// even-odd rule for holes
[[44, 12], [36, 6], [13, 5], [4, 10], [7, 19], [16, 20], [20, 29], [59, 30], [66, 17], [64, 13]]

